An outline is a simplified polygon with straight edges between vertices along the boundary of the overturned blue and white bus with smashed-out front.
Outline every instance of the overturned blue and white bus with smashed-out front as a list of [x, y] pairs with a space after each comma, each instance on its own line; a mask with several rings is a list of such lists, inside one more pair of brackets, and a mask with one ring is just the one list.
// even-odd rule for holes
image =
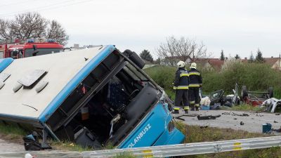
[[0, 120], [55, 140], [119, 148], [181, 143], [169, 98], [115, 46], [0, 61]]

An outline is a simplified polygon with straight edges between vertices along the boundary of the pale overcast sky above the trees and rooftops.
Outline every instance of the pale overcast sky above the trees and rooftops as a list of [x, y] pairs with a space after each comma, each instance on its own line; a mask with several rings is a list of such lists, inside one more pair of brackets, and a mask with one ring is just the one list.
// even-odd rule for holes
[[[58, 20], [73, 44], [115, 44], [137, 53], [155, 48], [166, 37], [203, 41], [220, 56], [248, 57], [281, 53], [281, 1], [277, 0], [0, 0], [0, 18], [38, 11]], [[154, 55], [155, 57], [156, 55]]]

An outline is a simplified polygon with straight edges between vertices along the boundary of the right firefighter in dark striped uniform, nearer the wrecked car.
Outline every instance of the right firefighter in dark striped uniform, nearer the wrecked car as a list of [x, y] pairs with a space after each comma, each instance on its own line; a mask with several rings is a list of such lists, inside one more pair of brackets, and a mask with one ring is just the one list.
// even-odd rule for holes
[[189, 71], [189, 99], [191, 110], [199, 110], [200, 103], [200, 87], [202, 87], [201, 73], [196, 69], [197, 65], [192, 62]]

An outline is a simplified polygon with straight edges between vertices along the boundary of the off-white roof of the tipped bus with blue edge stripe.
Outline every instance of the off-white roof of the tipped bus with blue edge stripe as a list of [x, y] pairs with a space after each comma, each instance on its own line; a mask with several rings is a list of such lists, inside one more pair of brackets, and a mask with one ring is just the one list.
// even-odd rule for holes
[[[93, 68], [114, 50], [115, 46], [100, 46], [14, 60], [0, 73], [11, 74], [0, 89], [0, 117], [46, 121]], [[44, 71], [45, 75], [36, 77], [37, 72]], [[34, 87], [24, 86], [13, 91], [19, 82], [32, 79]], [[37, 93], [35, 89], [44, 81], [48, 82], [46, 88]]]

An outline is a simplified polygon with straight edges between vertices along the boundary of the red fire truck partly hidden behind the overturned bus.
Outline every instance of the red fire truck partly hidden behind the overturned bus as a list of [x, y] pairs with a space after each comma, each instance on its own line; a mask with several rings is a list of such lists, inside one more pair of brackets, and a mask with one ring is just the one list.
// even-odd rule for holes
[[27, 58], [36, 55], [59, 53], [63, 45], [55, 39], [20, 39], [0, 41], [0, 58]]

